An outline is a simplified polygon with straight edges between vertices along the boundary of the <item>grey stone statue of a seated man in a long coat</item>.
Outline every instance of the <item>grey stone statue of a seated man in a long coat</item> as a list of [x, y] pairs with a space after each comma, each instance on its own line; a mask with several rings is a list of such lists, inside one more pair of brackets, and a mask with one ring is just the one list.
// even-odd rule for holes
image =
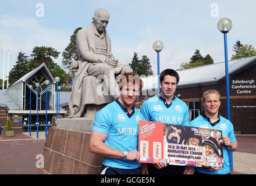
[[[133, 71], [114, 58], [111, 40], [106, 33], [109, 12], [95, 10], [93, 22], [77, 32], [76, 44], [79, 60], [72, 61], [73, 87], [69, 99], [69, 117], [84, 117], [88, 105], [110, 103], [119, 96], [115, 77]], [[102, 86], [107, 89], [102, 90]]]

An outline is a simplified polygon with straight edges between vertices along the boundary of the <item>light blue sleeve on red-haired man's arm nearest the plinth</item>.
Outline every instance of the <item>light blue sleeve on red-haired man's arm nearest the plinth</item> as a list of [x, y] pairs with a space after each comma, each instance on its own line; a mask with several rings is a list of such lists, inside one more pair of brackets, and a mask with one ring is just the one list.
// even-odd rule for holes
[[112, 115], [113, 113], [108, 112], [107, 109], [100, 110], [95, 116], [93, 128], [91, 130], [97, 131], [103, 134], [108, 134], [111, 128], [111, 124], [113, 124]]

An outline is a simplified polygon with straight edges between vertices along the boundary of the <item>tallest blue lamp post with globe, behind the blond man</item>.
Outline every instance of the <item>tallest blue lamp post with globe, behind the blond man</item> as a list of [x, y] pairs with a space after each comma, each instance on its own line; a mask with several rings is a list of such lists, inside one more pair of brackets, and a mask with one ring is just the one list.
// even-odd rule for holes
[[[230, 19], [222, 18], [217, 24], [218, 30], [224, 34], [224, 48], [225, 48], [225, 71], [226, 71], [226, 98], [227, 98], [227, 119], [230, 120], [230, 99], [229, 99], [229, 64], [227, 59], [227, 33], [232, 28]], [[230, 170], [233, 170], [233, 153], [229, 152]]]

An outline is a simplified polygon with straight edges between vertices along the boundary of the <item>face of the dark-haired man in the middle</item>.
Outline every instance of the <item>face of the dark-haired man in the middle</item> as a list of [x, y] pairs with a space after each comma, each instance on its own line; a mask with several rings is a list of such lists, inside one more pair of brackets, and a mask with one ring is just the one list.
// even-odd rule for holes
[[163, 96], [163, 98], [173, 98], [176, 91], [176, 87], [177, 87], [176, 77], [166, 75], [160, 84], [161, 84], [160, 95]]

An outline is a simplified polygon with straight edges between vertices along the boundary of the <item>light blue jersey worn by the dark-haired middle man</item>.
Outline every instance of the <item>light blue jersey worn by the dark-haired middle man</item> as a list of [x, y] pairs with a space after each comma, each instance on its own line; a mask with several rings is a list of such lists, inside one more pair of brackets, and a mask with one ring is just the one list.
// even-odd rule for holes
[[141, 105], [141, 120], [189, 126], [189, 109], [176, 96], [168, 105], [161, 96], [153, 96]]

